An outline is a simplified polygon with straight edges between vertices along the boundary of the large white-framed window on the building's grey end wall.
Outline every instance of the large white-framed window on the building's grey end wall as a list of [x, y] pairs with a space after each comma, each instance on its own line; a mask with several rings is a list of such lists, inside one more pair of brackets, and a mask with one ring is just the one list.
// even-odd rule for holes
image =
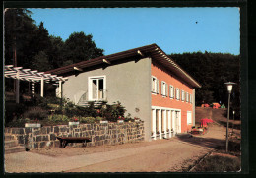
[[89, 77], [88, 98], [89, 100], [105, 100], [106, 85], [105, 76]]

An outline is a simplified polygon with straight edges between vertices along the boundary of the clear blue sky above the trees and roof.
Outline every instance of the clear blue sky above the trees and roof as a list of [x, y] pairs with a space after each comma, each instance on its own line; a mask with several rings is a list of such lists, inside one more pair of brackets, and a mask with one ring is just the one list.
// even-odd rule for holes
[[239, 8], [29, 9], [36, 25], [64, 41], [92, 34], [104, 55], [156, 43], [166, 53], [240, 54]]

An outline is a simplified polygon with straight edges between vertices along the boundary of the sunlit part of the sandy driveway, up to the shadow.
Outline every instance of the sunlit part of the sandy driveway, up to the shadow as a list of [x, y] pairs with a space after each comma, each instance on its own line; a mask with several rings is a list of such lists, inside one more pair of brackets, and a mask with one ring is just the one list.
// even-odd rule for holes
[[137, 148], [65, 157], [52, 157], [30, 151], [18, 152], [5, 155], [5, 170], [6, 172], [177, 171], [182, 168], [184, 162], [193, 162], [213, 149], [209, 144], [194, 144], [192, 139], [195, 138], [173, 138], [159, 144], [142, 145]]

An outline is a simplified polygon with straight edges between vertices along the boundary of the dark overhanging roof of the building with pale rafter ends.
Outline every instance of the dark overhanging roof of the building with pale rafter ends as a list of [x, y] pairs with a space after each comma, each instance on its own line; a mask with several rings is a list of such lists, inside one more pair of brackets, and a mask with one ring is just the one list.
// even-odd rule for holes
[[107, 56], [100, 56], [88, 61], [82, 61], [76, 64], [50, 70], [45, 73], [50, 73], [55, 75], [65, 74], [74, 70], [82, 70], [83, 68], [88, 68], [98, 64], [103, 64], [103, 63], [110, 64], [112, 61], [120, 60], [127, 57], [133, 57], [133, 56], [141, 56], [141, 57], [150, 56], [153, 60], [159, 61], [168, 70], [172, 71], [174, 74], [176, 74], [178, 77], [180, 77], [183, 81], [185, 81], [192, 87], [201, 88], [201, 85], [195, 79], [193, 79], [187, 72], [185, 72], [177, 63], [175, 63], [170, 57], [168, 57], [160, 49], [160, 47], [157, 44], [150, 44], [150, 45], [130, 49], [127, 51], [110, 54]]

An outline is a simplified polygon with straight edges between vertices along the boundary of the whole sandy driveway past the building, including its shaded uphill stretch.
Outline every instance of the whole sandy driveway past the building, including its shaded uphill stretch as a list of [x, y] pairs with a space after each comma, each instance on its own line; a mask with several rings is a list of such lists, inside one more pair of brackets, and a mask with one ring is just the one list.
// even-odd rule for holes
[[5, 155], [6, 172], [175, 172], [224, 144], [224, 128], [204, 136], [94, 148], [44, 148]]

